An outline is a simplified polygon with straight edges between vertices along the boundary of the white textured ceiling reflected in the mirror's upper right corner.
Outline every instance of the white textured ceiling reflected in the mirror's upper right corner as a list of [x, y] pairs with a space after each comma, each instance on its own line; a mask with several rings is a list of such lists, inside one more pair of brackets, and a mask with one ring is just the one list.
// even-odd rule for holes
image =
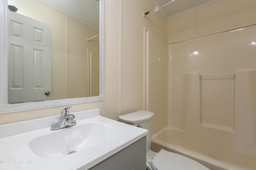
[[40, 0], [99, 31], [98, 0]]

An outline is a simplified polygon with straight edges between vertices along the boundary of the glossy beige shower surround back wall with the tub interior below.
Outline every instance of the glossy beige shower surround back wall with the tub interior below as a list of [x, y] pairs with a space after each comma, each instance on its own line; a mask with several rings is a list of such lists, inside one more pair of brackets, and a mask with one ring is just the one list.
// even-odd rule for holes
[[170, 45], [170, 129], [159, 139], [255, 169], [255, 32], [253, 25]]

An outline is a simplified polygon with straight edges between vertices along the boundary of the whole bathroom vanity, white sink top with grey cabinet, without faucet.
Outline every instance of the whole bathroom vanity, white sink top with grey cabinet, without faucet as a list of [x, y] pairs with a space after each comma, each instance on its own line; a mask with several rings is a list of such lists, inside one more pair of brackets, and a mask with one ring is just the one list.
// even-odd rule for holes
[[145, 170], [148, 131], [73, 112], [76, 125], [51, 130], [60, 115], [0, 125], [1, 170]]

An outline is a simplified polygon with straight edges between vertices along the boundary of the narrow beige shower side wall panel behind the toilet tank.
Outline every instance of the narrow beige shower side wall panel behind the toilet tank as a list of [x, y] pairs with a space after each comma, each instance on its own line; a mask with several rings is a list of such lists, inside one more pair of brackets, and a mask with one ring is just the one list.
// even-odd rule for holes
[[149, 49], [148, 110], [154, 113], [152, 134], [167, 125], [167, 51], [168, 45]]

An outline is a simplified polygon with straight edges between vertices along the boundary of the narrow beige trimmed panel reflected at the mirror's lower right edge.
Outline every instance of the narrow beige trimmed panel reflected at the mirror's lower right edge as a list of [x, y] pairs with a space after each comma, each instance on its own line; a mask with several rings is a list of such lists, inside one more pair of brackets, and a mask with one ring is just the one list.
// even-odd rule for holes
[[90, 96], [100, 96], [100, 54], [89, 51], [90, 61]]

